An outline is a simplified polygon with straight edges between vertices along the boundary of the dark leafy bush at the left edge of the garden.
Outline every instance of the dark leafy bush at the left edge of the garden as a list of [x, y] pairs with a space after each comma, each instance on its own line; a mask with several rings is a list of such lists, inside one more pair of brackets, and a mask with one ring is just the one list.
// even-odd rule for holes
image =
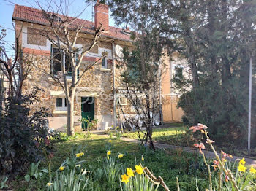
[[39, 101], [35, 88], [30, 95], [8, 98], [0, 120], [0, 172], [18, 174], [30, 163], [50, 155], [53, 149], [48, 137], [48, 110], [31, 111]]

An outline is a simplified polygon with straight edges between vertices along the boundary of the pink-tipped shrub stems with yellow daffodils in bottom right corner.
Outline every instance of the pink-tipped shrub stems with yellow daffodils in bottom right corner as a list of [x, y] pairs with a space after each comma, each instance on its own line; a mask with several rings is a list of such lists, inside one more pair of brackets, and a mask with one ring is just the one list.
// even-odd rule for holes
[[[206, 129], [208, 129], [208, 127], [200, 123], [190, 128], [190, 130], [193, 130], [193, 132], [200, 130], [200, 132], [203, 133], [203, 135], [206, 137], [206, 144], [209, 144], [216, 157], [216, 160], [214, 160], [213, 164], [210, 165], [206, 162], [206, 157], [202, 151], [202, 149], [205, 149], [205, 145], [203, 143], [194, 144], [194, 146], [197, 147], [200, 153], [203, 155], [204, 163], [208, 167], [208, 179], [210, 182], [208, 190], [255, 190], [256, 169], [252, 166], [248, 169], [245, 166], [246, 161], [244, 158], [239, 160], [238, 165], [236, 162], [233, 165], [230, 162], [227, 163], [227, 159], [233, 158], [233, 156], [223, 151], [219, 156], [214, 149], [214, 141], [209, 138]], [[211, 166], [214, 167], [213, 172], [211, 171]], [[214, 173], [218, 174], [217, 178], [215, 178], [215, 182], [217, 183], [216, 188], [214, 188], [212, 184], [212, 176]]]

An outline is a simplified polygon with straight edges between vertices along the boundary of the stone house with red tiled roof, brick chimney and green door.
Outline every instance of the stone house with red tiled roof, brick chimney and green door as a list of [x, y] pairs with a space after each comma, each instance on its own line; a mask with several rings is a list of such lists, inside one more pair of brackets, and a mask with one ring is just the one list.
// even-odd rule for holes
[[[102, 60], [102, 63], [89, 69], [83, 76], [83, 79], [81, 79], [78, 92], [76, 93], [77, 96], [75, 97], [75, 121], [78, 121], [81, 117], [91, 117], [91, 119], [97, 118], [99, 125], [100, 122], [108, 122], [108, 126], [110, 126], [113, 125], [113, 90], [118, 89], [120, 86], [117, 78], [120, 76], [120, 71], [115, 69], [115, 72], [113, 72], [113, 68], [115, 68], [113, 63], [116, 63], [115, 59], [113, 59], [115, 58], [113, 57], [115, 55], [113, 50], [115, 50], [117, 45], [130, 49], [132, 41], [130, 40], [129, 30], [109, 26], [108, 5], [97, 2], [94, 10], [95, 22], [83, 20], [86, 22], [86, 29], [83, 31], [83, 39], [81, 38], [76, 46], [82, 47], [83, 41], [89, 39], [89, 35], [94, 32], [94, 28], [101, 23], [105, 29], [102, 35], [104, 39], [83, 58], [83, 63], [97, 61], [97, 59], [102, 57], [103, 52], [108, 52], [108, 55]], [[16, 31], [22, 30], [22, 40], [20, 43], [22, 44], [24, 54], [36, 61], [39, 66], [47, 69], [49, 74], [50, 72], [56, 72], [57, 74], [57, 68], [54, 71], [50, 69], [51, 58], [56, 50], [54, 50], [48, 39], [33, 32], [46, 26], [47, 21], [42, 11], [16, 4], [12, 20], [15, 21]], [[80, 66], [80, 71], [83, 71], [83, 68], [83, 65]], [[113, 80], [115, 80], [115, 83], [113, 83]], [[35, 86], [45, 91], [40, 93], [40, 106], [50, 108], [50, 113], [53, 115], [53, 117], [49, 117], [50, 128], [64, 130], [67, 124], [67, 104], [65, 103], [65, 96], [61, 87], [56, 82], [53, 82], [48, 74], [34, 67], [23, 84], [23, 93], [31, 92], [32, 87]], [[89, 101], [86, 101], [87, 99]], [[121, 98], [121, 102], [126, 105], [127, 103], [124, 99]], [[35, 105], [34, 109], [38, 107]]]

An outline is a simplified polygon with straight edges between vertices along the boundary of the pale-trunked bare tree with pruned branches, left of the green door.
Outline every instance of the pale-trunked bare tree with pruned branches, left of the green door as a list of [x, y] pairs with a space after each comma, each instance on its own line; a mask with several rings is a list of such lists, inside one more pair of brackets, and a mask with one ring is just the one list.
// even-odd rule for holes
[[[80, 66], [86, 53], [90, 52], [100, 42], [100, 37], [104, 30], [99, 26], [94, 28], [93, 32], [89, 32], [91, 34], [88, 34], [89, 26], [86, 26], [87, 21], [78, 19], [82, 12], [75, 15], [75, 17], [69, 17], [67, 7], [70, 5], [68, 6], [66, 1], [60, 1], [59, 3], [51, 1], [51, 4], [49, 3], [46, 9], [43, 8], [45, 5], [42, 6], [39, 1], [36, 2], [47, 22], [47, 25], [37, 31], [37, 34], [48, 39], [56, 51], [51, 58], [50, 73], [42, 69], [42, 67], [36, 67], [48, 74], [64, 91], [67, 99], [67, 135], [71, 136], [74, 134], [75, 93], [80, 79], [84, 77], [86, 71], [101, 61], [105, 55], [102, 55], [102, 58], [99, 58], [98, 61], [87, 63], [83, 71], [81, 71]], [[87, 35], [86, 38], [85, 35]], [[77, 47], [76, 44], [82, 44], [82, 46]], [[56, 66], [59, 66], [59, 71], [54, 71]], [[67, 82], [67, 76], [71, 77], [70, 83]]]

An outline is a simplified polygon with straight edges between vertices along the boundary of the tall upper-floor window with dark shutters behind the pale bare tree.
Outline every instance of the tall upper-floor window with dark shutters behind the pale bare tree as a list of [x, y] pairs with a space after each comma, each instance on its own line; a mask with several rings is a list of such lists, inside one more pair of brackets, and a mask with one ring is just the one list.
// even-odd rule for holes
[[[75, 60], [78, 62], [78, 50], [75, 53]], [[61, 52], [58, 47], [51, 47], [51, 72], [53, 75], [58, 75], [61, 73]], [[67, 76], [72, 75], [72, 67], [70, 65], [69, 54], [63, 55], [63, 65], [67, 72]], [[78, 72], [79, 73], [79, 72]]]

